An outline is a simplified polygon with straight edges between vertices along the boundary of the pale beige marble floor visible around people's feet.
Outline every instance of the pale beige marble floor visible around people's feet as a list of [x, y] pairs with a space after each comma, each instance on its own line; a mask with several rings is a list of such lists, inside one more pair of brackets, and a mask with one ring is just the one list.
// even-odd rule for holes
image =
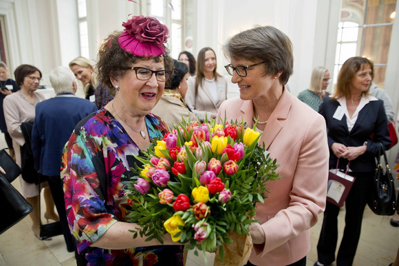
[[[0, 148], [6, 143], [0, 133]], [[18, 179], [12, 183], [20, 189]], [[43, 218], [42, 210], [42, 219]], [[4, 214], [3, 214], [4, 215]], [[345, 217], [343, 208], [338, 217], [341, 241]], [[310, 230], [312, 248], [308, 254], [307, 265], [312, 266], [317, 260], [316, 244], [319, 239], [323, 214], [319, 215], [319, 222]], [[399, 228], [389, 224], [391, 217], [380, 217], [366, 208], [360, 243], [356, 253], [355, 266], [386, 266], [396, 258], [399, 245]], [[21, 265], [76, 265], [74, 254], [67, 252], [63, 236], [53, 237], [51, 241], [40, 241], [34, 236], [29, 217], [14, 225], [10, 230], [0, 235], [0, 266]], [[214, 254], [207, 254], [208, 265], [213, 265]], [[206, 265], [202, 255], [195, 256], [193, 252], [188, 253], [187, 266]], [[333, 263], [332, 265], [336, 265]]]

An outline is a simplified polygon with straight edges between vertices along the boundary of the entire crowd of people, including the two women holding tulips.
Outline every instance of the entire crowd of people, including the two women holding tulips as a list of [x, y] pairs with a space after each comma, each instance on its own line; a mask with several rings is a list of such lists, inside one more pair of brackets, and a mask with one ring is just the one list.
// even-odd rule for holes
[[[139, 36], [135, 27], [144, 24], [156, 28], [155, 38]], [[310, 228], [322, 212], [315, 265], [352, 265], [374, 157], [381, 145], [389, 148], [387, 125], [394, 120], [387, 93], [372, 82], [373, 62], [349, 58], [331, 95], [330, 71], [316, 67], [309, 88], [295, 97], [287, 88], [293, 72], [290, 38], [276, 27], [254, 27], [223, 46], [226, 73], [239, 88], [239, 97], [228, 99], [214, 49], [200, 49], [197, 58], [184, 51], [173, 60], [165, 46], [169, 30], [157, 19], [133, 16], [123, 26], [100, 45], [96, 63], [78, 56], [69, 69], [50, 72], [54, 98], [45, 100], [37, 91], [38, 68], [20, 65], [14, 81], [0, 62], [0, 130], [20, 166], [25, 143], [32, 143], [34, 167], [28, 170], [42, 178], [38, 184], [19, 178], [23, 196], [34, 206], [36, 237], [51, 239], [40, 234], [43, 189], [45, 218], [61, 221], [78, 265], [139, 265], [155, 258], [149, 265], [184, 265], [184, 245], [169, 234], [160, 243], [127, 233], [138, 227], [126, 221], [131, 202], [123, 192], [131, 168], [141, 164], [131, 155], [146, 151], [182, 118], [227, 118], [256, 124], [256, 131], [265, 133], [259, 144], [277, 159], [281, 176], [268, 183], [268, 198], [257, 205], [259, 223], [250, 228], [253, 248], [246, 265], [306, 265]], [[75, 95], [77, 80], [85, 99]], [[29, 122], [28, 141], [21, 128]], [[345, 230], [335, 256], [340, 208], [326, 202], [326, 194], [328, 171], [338, 160], [341, 169], [350, 162], [356, 180], [345, 200]]]

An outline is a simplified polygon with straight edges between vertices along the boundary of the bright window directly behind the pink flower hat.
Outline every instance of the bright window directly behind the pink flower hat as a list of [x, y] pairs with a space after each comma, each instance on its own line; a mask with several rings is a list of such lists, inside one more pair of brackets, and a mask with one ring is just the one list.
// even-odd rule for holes
[[[184, 39], [184, 1], [182, 0], [144, 0], [147, 2], [147, 10], [150, 12], [143, 12], [142, 14], [150, 13], [161, 23], [164, 23], [170, 31], [171, 37], [168, 39], [168, 47], [171, 50], [171, 56], [177, 58], [182, 51], [182, 42]], [[142, 3], [144, 2], [142, 1]], [[143, 10], [145, 11], [145, 10]]]

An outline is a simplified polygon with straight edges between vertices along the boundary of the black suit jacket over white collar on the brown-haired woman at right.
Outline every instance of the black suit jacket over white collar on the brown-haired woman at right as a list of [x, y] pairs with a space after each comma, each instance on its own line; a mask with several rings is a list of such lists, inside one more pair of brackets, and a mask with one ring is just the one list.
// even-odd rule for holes
[[[370, 96], [373, 97], [373, 96]], [[371, 100], [358, 113], [358, 118], [352, 131], [347, 128], [346, 115], [341, 120], [333, 118], [336, 109], [340, 106], [336, 100], [324, 98], [320, 105], [319, 113], [325, 118], [327, 124], [327, 141], [330, 147], [334, 142], [345, 146], [363, 146], [367, 142], [367, 150], [363, 155], [352, 160], [349, 168], [354, 172], [368, 172], [375, 169], [375, 156], [380, 149], [380, 142], [385, 149], [389, 148], [391, 140], [387, 125], [387, 115], [385, 115], [384, 102], [382, 100]], [[374, 135], [371, 139], [371, 135]], [[336, 167], [338, 158], [330, 150], [330, 168]], [[347, 165], [347, 159], [339, 160], [339, 168], [343, 169]]]

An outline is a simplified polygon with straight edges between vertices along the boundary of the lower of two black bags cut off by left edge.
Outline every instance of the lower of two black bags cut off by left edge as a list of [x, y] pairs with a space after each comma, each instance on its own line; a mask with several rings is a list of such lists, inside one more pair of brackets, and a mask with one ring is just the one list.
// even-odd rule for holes
[[21, 221], [33, 210], [33, 206], [0, 173], [0, 234]]

